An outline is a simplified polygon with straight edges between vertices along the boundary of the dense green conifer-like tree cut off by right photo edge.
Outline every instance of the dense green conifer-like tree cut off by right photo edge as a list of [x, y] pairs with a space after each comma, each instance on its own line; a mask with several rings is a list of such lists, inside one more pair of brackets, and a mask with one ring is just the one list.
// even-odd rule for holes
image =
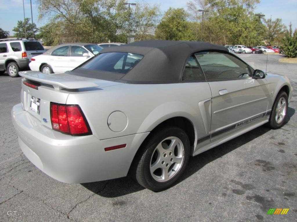
[[297, 56], [297, 31], [292, 32], [292, 23], [282, 39], [282, 49], [286, 57], [295, 58]]

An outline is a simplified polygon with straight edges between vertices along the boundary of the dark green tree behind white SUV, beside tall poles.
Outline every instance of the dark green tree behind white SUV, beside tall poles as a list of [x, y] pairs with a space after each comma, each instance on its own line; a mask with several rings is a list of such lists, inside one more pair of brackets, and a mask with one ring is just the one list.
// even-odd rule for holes
[[[25, 31], [25, 26], [26, 26], [26, 31]], [[30, 18], [25, 18], [24, 21], [18, 21], [18, 24], [16, 27], [12, 29], [14, 31], [14, 37], [16, 38], [34, 38], [35, 34], [39, 31], [37, 28], [36, 24], [30, 22]]]

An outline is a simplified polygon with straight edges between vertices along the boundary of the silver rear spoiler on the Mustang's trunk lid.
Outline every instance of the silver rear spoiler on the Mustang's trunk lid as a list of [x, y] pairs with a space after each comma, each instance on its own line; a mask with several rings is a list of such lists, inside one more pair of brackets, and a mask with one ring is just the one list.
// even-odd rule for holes
[[19, 75], [37, 83], [52, 85], [56, 90], [81, 89], [99, 86], [89, 78], [68, 73], [45, 74], [38, 71], [23, 71], [19, 72]]

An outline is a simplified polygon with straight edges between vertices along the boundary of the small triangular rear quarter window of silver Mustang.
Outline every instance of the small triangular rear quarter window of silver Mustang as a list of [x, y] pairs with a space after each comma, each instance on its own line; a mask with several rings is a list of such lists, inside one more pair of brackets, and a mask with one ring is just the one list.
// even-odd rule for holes
[[189, 57], [184, 69], [183, 80], [194, 79], [205, 80], [204, 75], [194, 57]]

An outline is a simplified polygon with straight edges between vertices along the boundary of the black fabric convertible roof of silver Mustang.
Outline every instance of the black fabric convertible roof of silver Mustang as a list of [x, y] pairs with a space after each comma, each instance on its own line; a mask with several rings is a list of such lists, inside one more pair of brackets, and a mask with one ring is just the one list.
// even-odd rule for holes
[[143, 55], [143, 59], [119, 80], [139, 83], [166, 83], [181, 81], [187, 59], [193, 53], [203, 50], [229, 52], [223, 46], [206, 42], [153, 40], [105, 48], [100, 54], [130, 52]]

